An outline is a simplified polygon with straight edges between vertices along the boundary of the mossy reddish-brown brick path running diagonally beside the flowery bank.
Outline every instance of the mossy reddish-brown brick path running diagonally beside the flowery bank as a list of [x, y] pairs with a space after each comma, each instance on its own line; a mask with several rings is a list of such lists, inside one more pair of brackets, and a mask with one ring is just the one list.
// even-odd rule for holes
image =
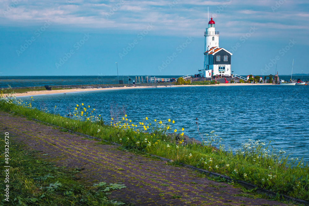
[[0, 130], [10, 132], [15, 144], [23, 143], [27, 150], [41, 151], [36, 154], [46, 161], [83, 169], [76, 174], [79, 178], [91, 183], [124, 183], [127, 188], [113, 191], [109, 195], [111, 199], [135, 205], [287, 205], [253, 199], [239, 188], [208, 180], [184, 167], [102, 145], [4, 112], [0, 112]]

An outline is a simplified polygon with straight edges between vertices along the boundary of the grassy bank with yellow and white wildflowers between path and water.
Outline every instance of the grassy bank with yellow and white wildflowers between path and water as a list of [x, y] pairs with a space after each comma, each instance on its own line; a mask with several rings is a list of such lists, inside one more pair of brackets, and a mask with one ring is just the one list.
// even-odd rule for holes
[[[170, 158], [175, 162], [225, 174], [244, 180], [259, 187], [292, 197], [309, 200], [309, 167], [302, 160], [288, 159], [284, 151], [272, 148], [258, 140], [249, 140], [242, 149], [235, 152], [213, 148], [220, 139], [211, 133], [204, 137], [204, 145], [183, 144], [182, 134], [168, 137], [171, 132], [182, 132], [175, 128], [172, 120], [149, 120], [133, 123], [127, 116], [114, 116], [104, 124], [100, 116], [95, 116], [95, 108], [77, 104], [72, 119], [31, 108], [31, 105], [16, 105], [2, 100], [0, 110], [11, 111], [44, 122], [58, 125], [76, 132], [120, 143], [125, 149], [134, 149]], [[87, 114], [88, 112], [88, 114]]]

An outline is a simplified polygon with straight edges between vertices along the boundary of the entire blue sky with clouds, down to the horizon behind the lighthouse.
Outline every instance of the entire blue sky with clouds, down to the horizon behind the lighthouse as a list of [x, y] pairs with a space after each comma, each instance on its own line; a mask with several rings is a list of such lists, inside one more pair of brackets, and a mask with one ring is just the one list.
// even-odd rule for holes
[[2, 0], [0, 75], [196, 74], [207, 6], [235, 74], [309, 73], [306, 0]]

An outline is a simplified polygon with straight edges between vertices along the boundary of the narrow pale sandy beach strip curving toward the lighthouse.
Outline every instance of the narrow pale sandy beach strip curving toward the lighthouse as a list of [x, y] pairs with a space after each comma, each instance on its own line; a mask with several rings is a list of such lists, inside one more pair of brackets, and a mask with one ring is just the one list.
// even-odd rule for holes
[[[249, 84], [249, 83], [222, 83], [216, 85], [171, 85], [171, 86], [157, 86], [158, 88], [161, 87], [188, 87], [188, 86], [256, 86], [256, 85], [276, 85], [276, 84]], [[100, 91], [100, 90], [117, 90], [117, 89], [144, 89], [144, 88], [151, 88], [147, 86], [123, 86], [123, 87], [112, 87], [112, 88], [86, 88], [86, 89], [64, 89], [64, 90], [43, 90], [43, 91], [29, 91], [25, 93], [15, 93], [16, 97], [22, 96], [35, 96], [35, 95], [52, 95], [52, 94], [60, 94], [60, 93], [71, 93], [71, 92], [87, 92], [87, 91]]]

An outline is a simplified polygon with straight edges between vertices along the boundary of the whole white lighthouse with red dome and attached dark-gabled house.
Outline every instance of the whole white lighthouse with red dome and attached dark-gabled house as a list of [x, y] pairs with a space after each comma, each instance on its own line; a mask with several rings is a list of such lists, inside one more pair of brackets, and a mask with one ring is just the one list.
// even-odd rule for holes
[[204, 66], [199, 69], [199, 74], [205, 78], [219, 75], [231, 75], [231, 55], [224, 48], [219, 48], [219, 32], [215, 30], [215, 22], [213, 18], [208, 22], [208, 27], [205, 36], [205, 52], [204, 52]]

